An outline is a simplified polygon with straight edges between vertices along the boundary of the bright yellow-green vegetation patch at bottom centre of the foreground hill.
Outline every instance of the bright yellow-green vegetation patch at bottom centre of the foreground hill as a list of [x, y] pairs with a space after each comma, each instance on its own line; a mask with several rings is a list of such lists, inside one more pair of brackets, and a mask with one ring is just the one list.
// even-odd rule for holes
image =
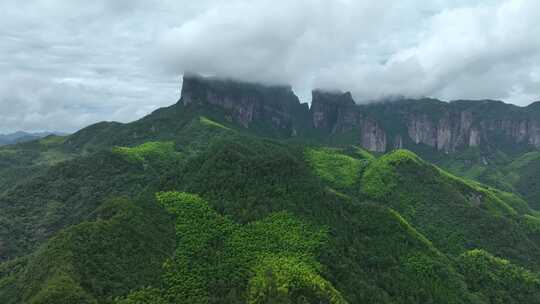
[[[174, 257], [164, 263], [159, 292], [137, 291], [120, 302], [151, 293], [159, 294], [167, 303], [239, 303], [245, 301], [248, 281], [247, 296], [255, 303], [264, 303], [259, 298], [265, 298], [266, 292], [272, 292], [267, 288], [274, 287], [279, 289], [280, 297], [294, 303], [299, 297], [309, 302], [315, 300], [312, 297], [340, 298], [331, 284], [317, 274], [320, 265], [314, 255], [326, 238], [324, 229], [309, 227], [287, 213], [239, 225], [219, 215], [198, 196], [166, 192], [157, 197], [176, 216], [178, 247]], [[271, 282], [274, 286], [268, 287], [266, 277], [259, 276], [261, 271], [262, 275], [286, 272], [297, 277]], [[301, 287], [295, 289], [295, 285]], [[284, 290], [287, 286], [290, 289]]]

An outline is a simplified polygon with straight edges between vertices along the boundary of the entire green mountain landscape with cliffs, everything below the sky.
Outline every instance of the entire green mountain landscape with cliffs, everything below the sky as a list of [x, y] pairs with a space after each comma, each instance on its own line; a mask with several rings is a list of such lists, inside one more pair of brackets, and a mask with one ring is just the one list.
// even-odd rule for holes
[[[188, 76], [140, 120], [2, 147], [0, 302], [539, 303], [534, 132], [490, 130], [535, 106], [484, 103], [315, 90], [308, 107]], [[444, 168], [513, 175], [504, 191]]]

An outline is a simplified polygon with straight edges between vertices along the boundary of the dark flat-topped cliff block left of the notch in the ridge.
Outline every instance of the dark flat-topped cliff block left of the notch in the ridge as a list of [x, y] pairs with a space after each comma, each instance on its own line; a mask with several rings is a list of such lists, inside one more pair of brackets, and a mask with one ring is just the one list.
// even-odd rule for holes
[[227, 117], [249, 128], [268, 124], [294, 135], [297, 116], [307, 113], [290, 86], [264, 86], [227, 79], [184, 76], [181, 103], [206, 104], [223, 110]]

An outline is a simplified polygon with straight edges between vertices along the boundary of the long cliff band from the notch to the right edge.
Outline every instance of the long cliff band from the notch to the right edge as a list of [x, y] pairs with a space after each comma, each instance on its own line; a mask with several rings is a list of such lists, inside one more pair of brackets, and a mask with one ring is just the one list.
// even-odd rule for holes
[[[334, 108], [318, 106], [312, 111], [314, 128], [331, 130], [329, 136], [358, 130], [359, 143], [370, 151], [420, 145], [445, 153], [468, 147], [540, 148], [540, 111], [536, 110], [540, 104], [522, 108], [492, 100], [447, 103], [434, 99], [334, 104]], [[333, 117], [334, 113], [334, 125], [320, 123], [320, 117]]]

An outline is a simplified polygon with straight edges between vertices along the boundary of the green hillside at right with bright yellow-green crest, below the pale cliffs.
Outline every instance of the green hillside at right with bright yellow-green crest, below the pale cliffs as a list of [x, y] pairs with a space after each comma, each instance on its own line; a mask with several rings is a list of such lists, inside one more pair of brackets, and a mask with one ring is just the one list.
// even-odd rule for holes
[[443, 252], [484, 248], [540, 266], [537, 232], [524, 224], [533, 212], [518, 197], [459, 179], [404, 150], [371, 164], [362, 186], [369, 198], [398, 211]]

